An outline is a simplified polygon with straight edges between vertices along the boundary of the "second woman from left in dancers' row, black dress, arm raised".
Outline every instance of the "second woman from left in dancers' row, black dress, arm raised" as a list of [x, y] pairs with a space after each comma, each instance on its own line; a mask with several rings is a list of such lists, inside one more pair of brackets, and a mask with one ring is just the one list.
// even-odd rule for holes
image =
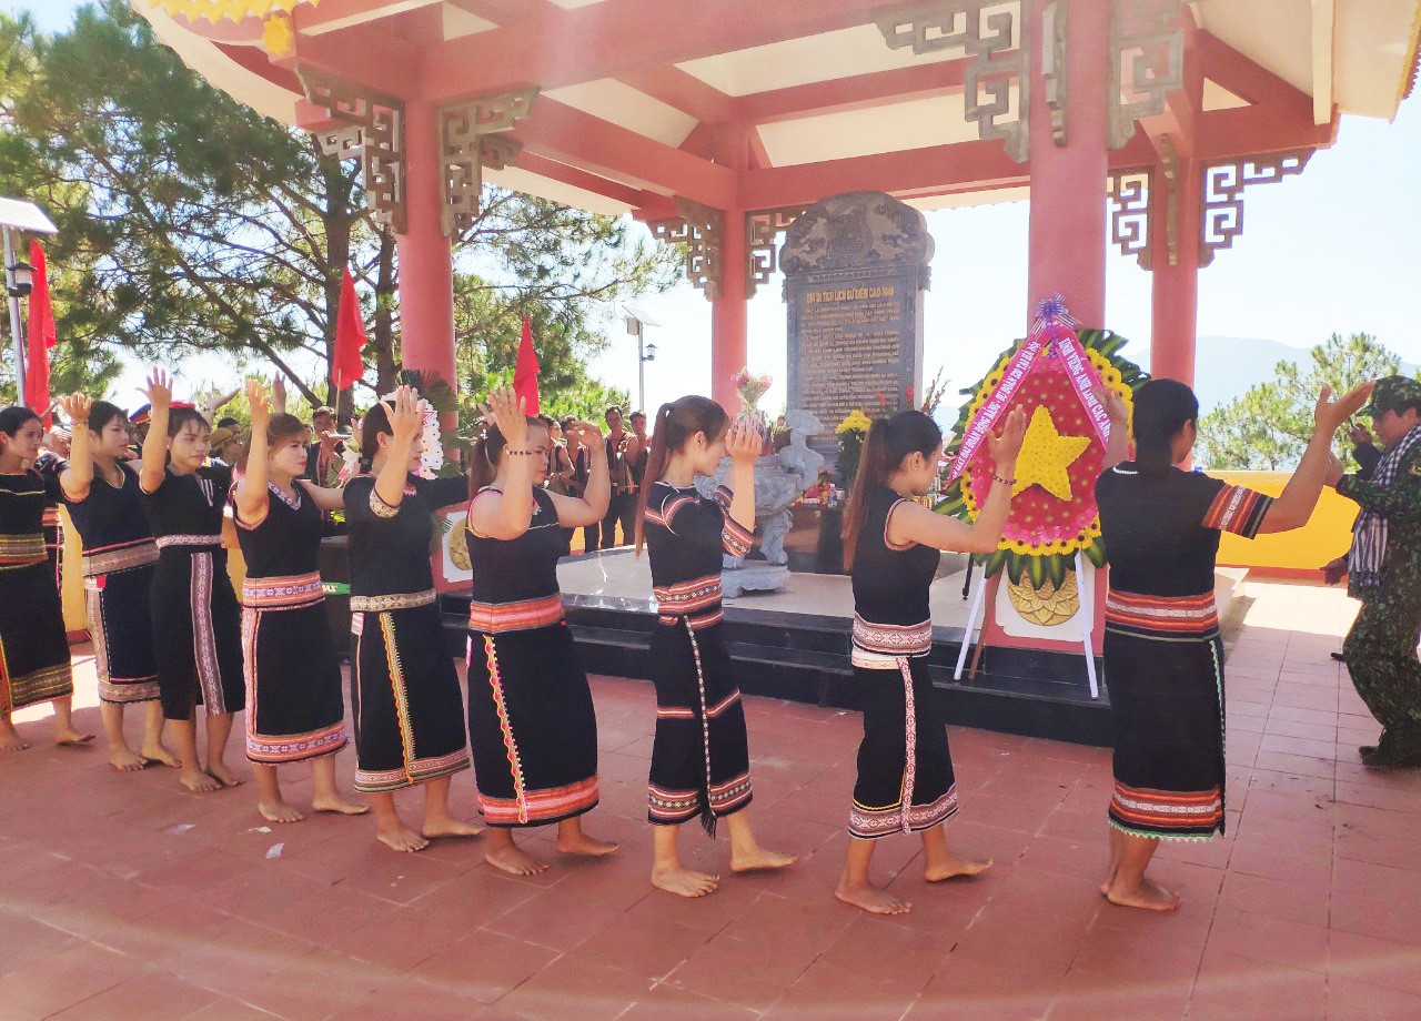
[[[163, 707], [149, 606], [158, 547], [138, 496], [138, 473], [126, 464], [128, 415], [82, 393], [61, 403], [74, 422], [74, 440], [60, 490], [84, 544], [84, 605], [108, 761], [124, 772], [151, 763], [178, 765], [162, 741]], [[138, 751], [124, 736], [124, 707], [134, 704], [144, 707]]]

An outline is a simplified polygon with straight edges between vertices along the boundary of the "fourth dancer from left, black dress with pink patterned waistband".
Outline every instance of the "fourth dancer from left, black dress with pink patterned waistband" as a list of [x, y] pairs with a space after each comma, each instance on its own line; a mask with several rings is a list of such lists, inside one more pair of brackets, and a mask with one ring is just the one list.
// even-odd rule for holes
[[360, 815], [365, 805], [345, 801], [335, 787], [334, 755], [350, 737], [318, 571], [323, 514], [344, 506], [342, 493], [303, 477], [311, 430], [294, 415], [273, 416], [257, 381], [247, 383], [247, 406], [252, 439], [232, 507], [247, 562], [242, 650], [257, 811], [269, 822], [300, 822], [301, 812], [281, 797], [277, 765], [310, 761], [311, 811]]

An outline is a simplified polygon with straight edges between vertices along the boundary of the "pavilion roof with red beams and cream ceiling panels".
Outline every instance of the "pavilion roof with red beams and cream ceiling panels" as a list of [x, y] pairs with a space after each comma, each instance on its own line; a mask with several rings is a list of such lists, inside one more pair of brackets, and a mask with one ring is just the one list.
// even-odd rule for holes
[[[307, 68], [436, 107], [534, 87], [536, 102], [507, 132], [522, 153], [486, 166], [483, 179], [594, 212], [654, 214], [669, 196], [719, 209], [793, 206], [820, 197], [826, 180], [919, 206], [962, 204], [1022, 197], [1029, 179], [1029, 166], [968, 118], [973, 57], [962, 45], [919, 54], [885, 41], [875, 18], [934, 6], [921, 0], [131, 1], [189, 67], [290, 125], [331, 119], [307, 99]], [[294, 38], [281, 55], [270, 53], [261, 17], [200, 17], [213, 4], [240, 13], [293, 1]], [[1015, 11], [1012, 38], [993, 54], [1010, 65], [1019, 0], [936, 6]], [[1329, 145], [1339, 112], [1393, 118], [1410, 87], [1421, 0], [1189, 9], [1205, 159]], [[1010, 105], [1006, 122], [1015, 84]], [[1141, 132], [1111, 166], [1151, 159]]]

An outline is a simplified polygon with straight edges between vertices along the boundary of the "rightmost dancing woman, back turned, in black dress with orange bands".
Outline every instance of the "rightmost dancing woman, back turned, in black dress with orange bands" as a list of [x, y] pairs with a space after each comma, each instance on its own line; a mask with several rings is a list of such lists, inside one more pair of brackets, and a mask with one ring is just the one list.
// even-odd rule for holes
[[1111, 442], [1096, 500], [1110, 561], [1104, 657], [1115, 790], [1100, 889], [1111, 903], [1174, 910], [1179, 897], [1145, 878], [1160, 841], [1223, 832], [1219, 534], [1252, 538], [1307, 524], [1323, 484], [1341, 477], [1331, 437], [1370, 392], [1368, 383], [1333, 402], [1323, 389], [1312, 440], [1276, 500], [1175, 467], [1194, 449], [1199, 417], [1184, 383], [1152, 379], [1135, 393], [1134, 462], [1124, 462], [1124, 406], [1108, 402]]

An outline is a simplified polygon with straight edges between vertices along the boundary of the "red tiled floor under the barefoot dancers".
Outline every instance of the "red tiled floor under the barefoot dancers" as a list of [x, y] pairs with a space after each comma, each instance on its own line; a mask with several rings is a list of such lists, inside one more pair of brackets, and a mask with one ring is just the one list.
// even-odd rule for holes
[[[269, 826], [250, 785], [190, 795], [171, 770], [114, 772], [97, 747], [6, 755], [0, 1018], [1417, 1021], [1421, 775], [1357, 764], [1376, 726], [1327, 659], [1344, 602], [1249, 591], [1228, 663], [1229, 835], [1161, 852], [1154, 875], [1185, 897], [1175, 916], [1100, 896], [1106, 750], [972, 730], [952, 731], [951, 839], [996, 868], [928, 888], [917, 839], [890, 838], [877, 872], [912, 914], [836, 903], [858, 721], [763, 699], [746, 706], [752, 811], [803, 862], [726, 876], [699, 902], [652, 890], [651, 690], [597, 679], [588, 829], [622, 851], [530, 880], [486, 866], [477, 841], [395, 855], [368, 818]], [[92, 683], [85, 665], [81, 704]], [[44, 738], [33, 717], [21, 733]], [[80, 719], [98, 727], [92, 709]], [[344, 782], [352, 770], [345, 751]], [[297, 802], [304, 774], [287, 771]], [[472, 774], [455, 791], [472, 817]], [[526, 843], [551, 856], [547, 836]], [[726, 870], [723, 839], [688, 826], [685, 845]]]

